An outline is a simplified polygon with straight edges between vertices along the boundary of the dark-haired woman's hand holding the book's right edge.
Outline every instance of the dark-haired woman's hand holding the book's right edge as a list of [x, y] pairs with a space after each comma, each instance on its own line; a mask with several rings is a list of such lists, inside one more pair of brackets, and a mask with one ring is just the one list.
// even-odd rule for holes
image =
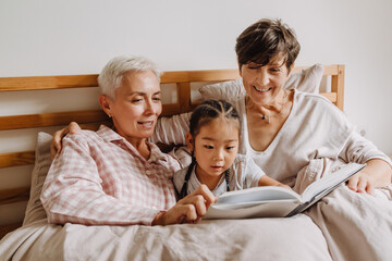
[[373, 195], [376, 187], [391, 184], [392, 169], [383, 160], [369, 160], [367, 165], [348, 179], [347, 186], [356, 192]]

